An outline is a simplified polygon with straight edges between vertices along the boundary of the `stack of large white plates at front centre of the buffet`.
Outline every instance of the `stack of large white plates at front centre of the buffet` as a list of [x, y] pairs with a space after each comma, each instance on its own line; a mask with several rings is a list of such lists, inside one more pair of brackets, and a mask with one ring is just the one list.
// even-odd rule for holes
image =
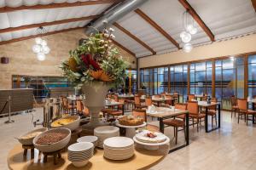
[[110, 160], [125, 160], [134, 154], [134, 141], [126, 137], [113, 137], [104, 141], [104, 156]]

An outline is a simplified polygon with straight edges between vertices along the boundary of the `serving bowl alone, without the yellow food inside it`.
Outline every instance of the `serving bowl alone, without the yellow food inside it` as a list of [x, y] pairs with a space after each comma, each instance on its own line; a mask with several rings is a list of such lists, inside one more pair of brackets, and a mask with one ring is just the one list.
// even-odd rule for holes
[[[58, 124], [58, 126], [55, 126], [55, 123], [56, 123], [56, 122], [61, 122], [61, 121], [64, 121], [65, 119], [68, 119], [68, 118], [74, 119], [74, 121], [73, 121], [73, 122], [70, 122], [70, 123], [68, 123], [68, 124], [63, 124], [63, 125]], [[58, 119], [58, 120], [56, 120], [55, 122], [52, 122], [52, 123], [50, 124], [50, 126], [51, 126], [52, 128], [56, 128], [56, 127], [66, 127], [66, 128], [69, 128], [71, 131], [77, 129], [77, 128], [79, 127], [79, 125], [80, 125], [80, 116], [66, 116], [66, 117], [63, 117], [63, 118], [61, 118], [61, 119]]]

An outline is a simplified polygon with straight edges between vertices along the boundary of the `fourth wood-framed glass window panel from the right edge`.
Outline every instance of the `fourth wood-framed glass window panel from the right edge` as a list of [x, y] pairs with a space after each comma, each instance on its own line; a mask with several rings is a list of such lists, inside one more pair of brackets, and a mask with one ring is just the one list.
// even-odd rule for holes
[[186, 101], [188, 94], [188, 65], [170, 67], [171, 94], [177, 92], [180, 102]]

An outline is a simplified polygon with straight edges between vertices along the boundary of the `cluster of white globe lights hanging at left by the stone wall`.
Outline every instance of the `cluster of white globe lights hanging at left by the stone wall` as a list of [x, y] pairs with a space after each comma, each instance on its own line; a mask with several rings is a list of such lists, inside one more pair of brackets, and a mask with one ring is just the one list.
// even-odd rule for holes
[[[44, 35], [46, 33], [46, 29], [42, 26], [40, 26], [37, 29], [37, 34], [38, 35]], [[40, 61], [45, 60], [46, 56], [45, 54], [49, 54], [50, 48], [47, 45], [47, 42], [41, 38], [41, 37], [36, 37], [35, 39], [36, 44], [33, 45], [32, 51], [37, 54], [37, 58]]]

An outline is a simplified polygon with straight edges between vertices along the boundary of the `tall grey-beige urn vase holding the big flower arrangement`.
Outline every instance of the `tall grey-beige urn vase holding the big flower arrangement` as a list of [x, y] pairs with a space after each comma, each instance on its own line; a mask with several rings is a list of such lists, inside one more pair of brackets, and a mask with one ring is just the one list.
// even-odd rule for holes
[[88, 107], [90, 111], [90, 122], [83, 126], [84, 129], [92, 131], [95, 127], [106, 125], [106, 123], [100, 121], [99, 113], [105, 106], [108, 88], [108, 85], [103, 82], [92, 82], [81, 88], [86, 98], [82, 101], [83, 105]]

